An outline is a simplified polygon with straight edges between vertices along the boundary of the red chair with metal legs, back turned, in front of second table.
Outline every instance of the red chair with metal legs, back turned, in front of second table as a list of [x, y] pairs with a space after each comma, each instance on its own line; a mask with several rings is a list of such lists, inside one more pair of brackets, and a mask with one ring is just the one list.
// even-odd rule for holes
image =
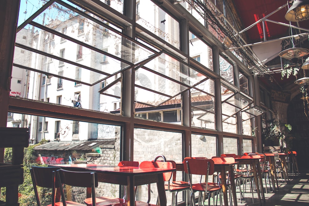
[[[205, 192], [208, 196], [210, 194], [216, 193], [219, 194], [220, 205], [222, 206], [222, 187], [218, 183], [210, 183], [208, 182], [208, 176], [214, 174], [214, 161], [211, 159], [205, 158], [185, 158], [184, 159], [184, 171], [189, 175], [189, 183], [190, 183], [190, 206], [195, 205], [195, 192], [199, 192], [198, 196], [198, 205], [201, 203], [204, 205], [203, 192]], [[199, 175], [200, 182], [194, 183], [192, 182], [191, 175]], [[201, 182], [202, 176], [205, 176], [205, 182]], [[208, 205], [210, 205], [210, 198], [208, 198]]]

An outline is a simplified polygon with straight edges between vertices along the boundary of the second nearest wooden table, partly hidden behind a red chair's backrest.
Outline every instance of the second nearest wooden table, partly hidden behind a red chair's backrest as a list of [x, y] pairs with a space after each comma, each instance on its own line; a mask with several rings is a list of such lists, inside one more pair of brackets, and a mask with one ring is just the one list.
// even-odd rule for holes
[[[184, 163], [183, 162], [176, 162], [176, 170], [177, 171], [184, 171]], [[216, 172], [221, 172], [221, 177], [226, 177], [226, 171], [228, 171], [229, 174], [234, 174], [234, 164], [214, 163], [214, 170]], [[222, 183], [222, 193], [223, 193], [224, 205], [229, 206], [228, 197], [227, 197], [226, 179], [222, 178], [221, 183]], [[237, 197], [236, 197], [236, 187], [235, 187], [234, 175], [230, 175], [230, 183], [231, 183], [231, 191], [232, 191], [232, 195], [233, 195], [234, 205], [237, 206]]]

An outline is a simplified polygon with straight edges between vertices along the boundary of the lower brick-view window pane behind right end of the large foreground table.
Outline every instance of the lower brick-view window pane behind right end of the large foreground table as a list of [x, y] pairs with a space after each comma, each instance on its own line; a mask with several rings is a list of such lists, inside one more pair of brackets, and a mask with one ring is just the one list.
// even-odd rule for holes
[[[162, 138], [158, 138], [162, 137]], [[156, 156], [164, 155], [167, 160], [182, 162], [182, 134], [151, 129], [134, 128], [134, 161], [153, 161]], [[161, 160], [161, 159], [159, 159]], [[177, 172], [177, 180], [182, 180], [182, 172]], [[158, 192], [156, 184], [151, 184], [150, 204], [156, 204]], [[138, 200], [148, 200], [148, 188], [142, 185], [138, 188]], [[167, 192], [167, 203], [171, 202], [171, 193]], [[182, 195], [178, 195], [178, 202], [183, 201]]]

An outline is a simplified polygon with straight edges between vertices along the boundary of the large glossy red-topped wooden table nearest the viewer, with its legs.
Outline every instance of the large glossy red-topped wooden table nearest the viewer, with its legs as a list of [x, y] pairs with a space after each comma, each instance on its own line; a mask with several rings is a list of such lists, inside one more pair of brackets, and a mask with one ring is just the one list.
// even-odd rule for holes
[[175, 171], [175, 169], [140, 168], [128, 166], [120, 167], [97, 164], [71, 164], [48, 166], [57, 166], [65, 170], [71, 171], [93, 171], [98, 174], [99, 182], [126, 185], [128, 186], [126, 191], [128, 206], [135, 205], [134, 187], [150, 183], [157, 183], [160, 205], [166, 206], [163, 173]]

